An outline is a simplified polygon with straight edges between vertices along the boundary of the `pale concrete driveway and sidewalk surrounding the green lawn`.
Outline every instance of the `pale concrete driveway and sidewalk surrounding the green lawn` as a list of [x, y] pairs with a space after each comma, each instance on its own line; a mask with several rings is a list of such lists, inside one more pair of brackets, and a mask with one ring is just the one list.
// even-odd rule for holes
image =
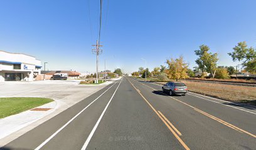
[[42, 81], [29, 84], [5, 83], [0, 86], [1, 97], [41, 97], [51, 98], [55, 101], [37, 107], [50, 108], [47, 111], [29, 110], [0, 119], [0, 147], [113, 82], [107, 81], [97, 86], [80, 85], [78, 82], [70, 81]]

